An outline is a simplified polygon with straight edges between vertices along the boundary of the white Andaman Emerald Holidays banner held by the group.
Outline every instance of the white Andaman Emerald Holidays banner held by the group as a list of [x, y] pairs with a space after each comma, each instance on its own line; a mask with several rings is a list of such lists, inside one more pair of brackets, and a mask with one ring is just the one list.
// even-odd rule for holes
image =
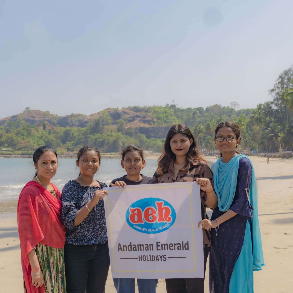
[[113, 278], [204, 277], [200, 189], [194, 182], [105, 188]]

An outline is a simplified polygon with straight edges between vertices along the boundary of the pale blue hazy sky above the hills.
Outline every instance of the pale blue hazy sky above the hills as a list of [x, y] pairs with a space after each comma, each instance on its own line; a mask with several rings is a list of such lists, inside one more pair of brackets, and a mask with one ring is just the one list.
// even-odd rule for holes
[[0, 117], [254, 108], [293, 64], [293, 1], [0, 0]]

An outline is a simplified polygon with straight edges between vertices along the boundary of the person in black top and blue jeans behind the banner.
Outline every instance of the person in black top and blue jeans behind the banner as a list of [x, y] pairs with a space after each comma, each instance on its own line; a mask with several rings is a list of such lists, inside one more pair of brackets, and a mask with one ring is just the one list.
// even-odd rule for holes
[[[156, 183], [151, 177], [144, 176], [140, 172], [144, 168], [146, 161], [144, 160], [143, 150], [130, 144], [122, 150], [121, 166], [126, 171], [126, 175], [113, 179], [110, 183], [126, 186], [126, 185], [139, 185], [139, 184], [152, 184]], [[135, 279], [132, 278], [114, 278], [114, 286], [117, 293], [135, 293]], [[139, 293], [155, 293], [158, 284], [158, 279], [137, 279], [137, 287]]]

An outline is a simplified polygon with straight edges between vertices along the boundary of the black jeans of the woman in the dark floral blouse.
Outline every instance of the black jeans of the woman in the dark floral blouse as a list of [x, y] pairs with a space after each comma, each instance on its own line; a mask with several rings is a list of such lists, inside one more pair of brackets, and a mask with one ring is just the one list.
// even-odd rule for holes
[[105, 244], [64, 246], [67, 293], [104, 293], [110, 257]]

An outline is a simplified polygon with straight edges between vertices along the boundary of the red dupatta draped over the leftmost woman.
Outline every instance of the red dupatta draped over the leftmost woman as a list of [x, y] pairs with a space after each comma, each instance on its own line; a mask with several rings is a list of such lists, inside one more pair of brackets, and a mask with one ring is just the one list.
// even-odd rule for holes
[[[19, 195], [17, 204], [17, 225], [21, 249], [21, 265], [25, 287], [31, 293], [31, 267], [28, 253], [38, 243], [63, 248], [66, 228], [61, 219], [61, 194], [54, 185], [57, 198], [35, 181], [28, 182]], [[33, 292], [42, 292], [45, 288], [35, 288]], [[39, 289], [39, 290], [38, 290]], [[44, 291], [45, 292], [45, 291]]]

